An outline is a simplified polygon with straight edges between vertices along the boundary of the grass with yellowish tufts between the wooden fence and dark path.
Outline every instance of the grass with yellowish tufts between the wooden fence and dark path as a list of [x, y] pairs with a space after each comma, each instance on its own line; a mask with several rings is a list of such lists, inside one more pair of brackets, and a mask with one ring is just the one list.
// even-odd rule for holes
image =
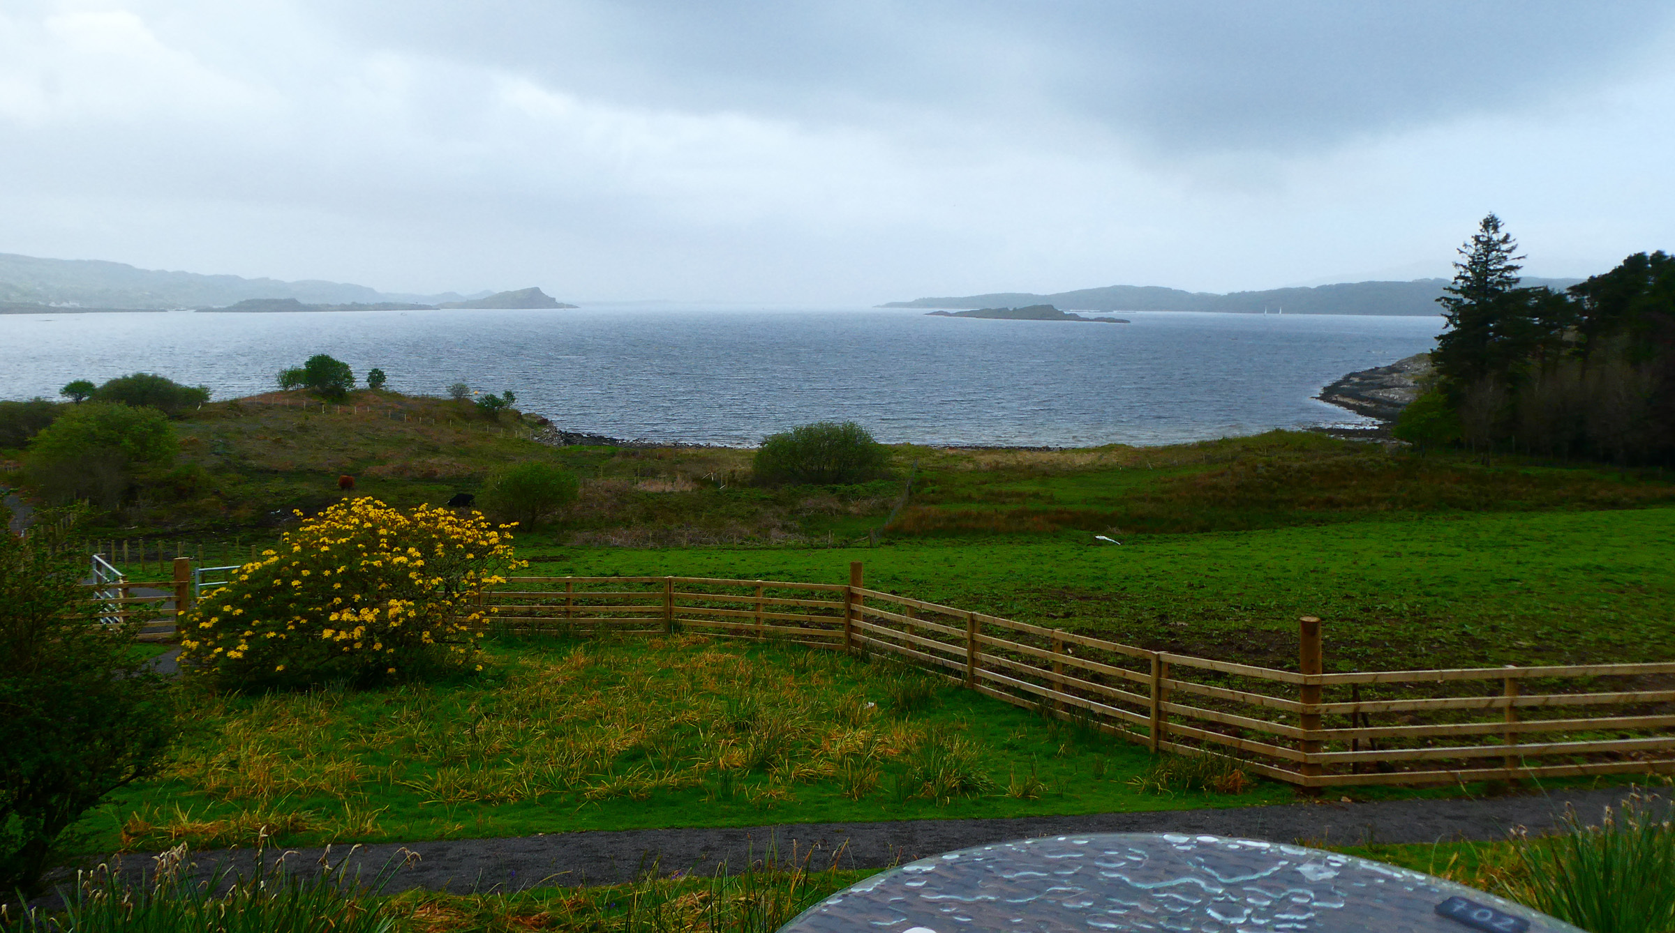
[[[774, 644], [534, 639], [434, 687], [189, 696], [89, 851], [1033, 816], [1291, 799], [1142, 789], [1144, 749], [891, 662]], [[868, 706], [873, 704], [873, 706]]]

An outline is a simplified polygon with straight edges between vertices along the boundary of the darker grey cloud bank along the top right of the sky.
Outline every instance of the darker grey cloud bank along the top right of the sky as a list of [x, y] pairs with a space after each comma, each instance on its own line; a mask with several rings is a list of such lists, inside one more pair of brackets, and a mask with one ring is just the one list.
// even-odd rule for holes
[[878, 109], [1095, 120], [1164, 150], [1295, 152], [1591, 87], [1675, 7], [1343, 3], [611, 3], [315, 0], [355, 42], [541, 75], [601, 99], [806, 120]]

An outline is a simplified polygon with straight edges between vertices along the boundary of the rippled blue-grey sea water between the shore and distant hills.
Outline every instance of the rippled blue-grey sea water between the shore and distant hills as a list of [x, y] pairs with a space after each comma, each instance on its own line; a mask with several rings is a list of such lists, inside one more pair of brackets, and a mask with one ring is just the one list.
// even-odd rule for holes
[[754, 445], [817, 420], [883, 441], [1172, 443], [1353, 425], [1312, 396], [1429, 349], [1439, 318], [1124, 313], [1132, 324], [973, 321], [915, 309], [608, 306], [578, 311], [0, 316], [0, 398], [134, 371], [270, 391], [313, 353], [390, 388], [464, 381], [573, 431]]

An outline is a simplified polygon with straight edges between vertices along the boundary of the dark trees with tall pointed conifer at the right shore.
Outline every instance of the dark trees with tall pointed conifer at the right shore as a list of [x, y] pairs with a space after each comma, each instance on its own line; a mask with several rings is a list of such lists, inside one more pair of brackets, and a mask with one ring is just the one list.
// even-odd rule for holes
[[1636, 252], [1563, 291], [1521, 288], [1518, 242], [1482, 219], [1437, 301], [1432, 385], [1395, 435], [1611, 463], [1675, 461], [1675, 257]]

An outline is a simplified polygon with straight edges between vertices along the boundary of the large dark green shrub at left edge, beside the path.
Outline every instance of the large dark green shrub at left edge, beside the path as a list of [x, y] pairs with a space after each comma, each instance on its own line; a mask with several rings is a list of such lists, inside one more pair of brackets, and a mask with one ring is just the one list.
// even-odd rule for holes
[[134, 659], [136, 625], [94, 619], [59, 518], [0, 533], [0, 891], [37, 891], [65, 831], [154, 772], [174, 736], [166, 684]]

